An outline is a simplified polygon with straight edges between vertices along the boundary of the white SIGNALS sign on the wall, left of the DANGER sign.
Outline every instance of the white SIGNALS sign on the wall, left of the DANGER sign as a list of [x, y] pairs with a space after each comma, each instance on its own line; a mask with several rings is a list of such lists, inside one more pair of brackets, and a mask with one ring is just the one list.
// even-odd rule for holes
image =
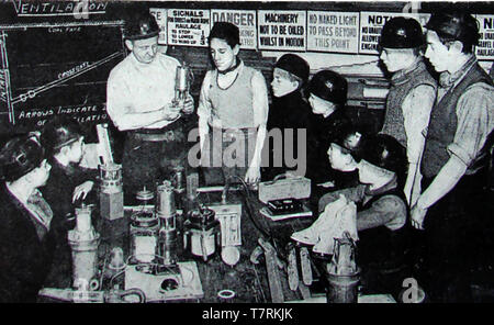
[[168, 44], [206, 47], [210, 24], [209, 10], [168, 9]]

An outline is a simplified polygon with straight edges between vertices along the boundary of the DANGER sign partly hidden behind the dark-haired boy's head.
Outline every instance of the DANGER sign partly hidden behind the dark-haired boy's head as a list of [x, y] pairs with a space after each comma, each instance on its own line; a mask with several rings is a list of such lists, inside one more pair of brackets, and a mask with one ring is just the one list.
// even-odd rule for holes
[[211, 27], [215, 22], [228, 22], [240, 32], [242, 48], [257, 48], [256, 10], [211, 10]]

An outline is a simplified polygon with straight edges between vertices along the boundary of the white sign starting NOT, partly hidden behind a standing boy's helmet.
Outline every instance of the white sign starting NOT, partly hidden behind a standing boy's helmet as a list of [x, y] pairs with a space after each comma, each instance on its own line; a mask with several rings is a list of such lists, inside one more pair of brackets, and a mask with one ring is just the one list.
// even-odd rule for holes
[[401, 13], [401, 12], [360, 12], [360, 45], [359, 53], [378, 54], [378, 43], [382, 26], [392, 18], [406, 16], [417, 20], [425, 25], [430, 13]]

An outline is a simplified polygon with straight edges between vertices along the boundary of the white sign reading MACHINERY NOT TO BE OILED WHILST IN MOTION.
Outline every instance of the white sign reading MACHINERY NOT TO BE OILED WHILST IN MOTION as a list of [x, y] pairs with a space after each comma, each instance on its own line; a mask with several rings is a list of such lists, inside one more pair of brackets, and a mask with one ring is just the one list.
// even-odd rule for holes
[[305, 51], [305, 11], [258, 10], [259, 49]]

